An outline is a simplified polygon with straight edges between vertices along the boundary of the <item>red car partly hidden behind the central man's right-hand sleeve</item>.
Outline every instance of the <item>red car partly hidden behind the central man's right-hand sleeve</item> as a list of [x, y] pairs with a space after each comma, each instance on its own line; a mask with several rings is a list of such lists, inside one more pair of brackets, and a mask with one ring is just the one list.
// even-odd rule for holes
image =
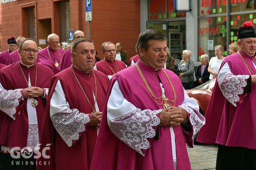
[[209, 104], [210, 98], [212, 96], [212, 90], [215, 85], [216, 77], [208, 82], [199, 85], [198, 87], [186, 90], [188, 96], [193, 98], [199, 105], [199, 111], [201, 114], [205, 115], [207, 106]]

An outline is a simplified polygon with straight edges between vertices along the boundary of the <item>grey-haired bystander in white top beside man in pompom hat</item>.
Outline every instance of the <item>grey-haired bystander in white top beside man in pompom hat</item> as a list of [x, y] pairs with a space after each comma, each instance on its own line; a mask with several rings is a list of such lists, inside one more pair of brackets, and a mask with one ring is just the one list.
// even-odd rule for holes
[[214, 47], [215, 50], [215, 57], [212, 57], [209, 62], [208, 72], [210, 73], [209, 79], [213, 79], [213, 77], [216, 77], [219, 73], [220, 65], [222, 61], [224, 60], [223, 54], [223, 48], [221, 45], [216, 45]]

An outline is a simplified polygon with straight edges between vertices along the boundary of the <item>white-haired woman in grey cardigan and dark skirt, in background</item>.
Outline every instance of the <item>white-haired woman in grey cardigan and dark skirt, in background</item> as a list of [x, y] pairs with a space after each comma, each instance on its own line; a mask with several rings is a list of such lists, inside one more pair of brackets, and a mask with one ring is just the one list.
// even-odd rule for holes
[[183, 50], [182, 59], [178, 64], [177, 74], [185, 90], [193, 88], [190, 82], [194, 83], [194, 61], [190, 59], [191, 55], [191, 51]]

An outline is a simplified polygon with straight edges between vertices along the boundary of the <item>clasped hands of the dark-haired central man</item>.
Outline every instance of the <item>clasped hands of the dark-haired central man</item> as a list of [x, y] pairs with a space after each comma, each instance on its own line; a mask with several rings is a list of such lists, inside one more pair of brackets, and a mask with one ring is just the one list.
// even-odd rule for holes
[[160, 112], [160, 126], [175, 127], [188, 119], [188, 115], [181, 107], [168, 107]]

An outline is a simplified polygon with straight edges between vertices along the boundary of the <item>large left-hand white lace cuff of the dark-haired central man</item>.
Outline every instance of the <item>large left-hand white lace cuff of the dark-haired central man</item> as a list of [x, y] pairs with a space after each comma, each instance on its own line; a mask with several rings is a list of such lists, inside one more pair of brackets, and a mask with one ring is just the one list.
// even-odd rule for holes
[[110, 119], [109, 127], [120, 140], [145, 156], [141, 149], [148, 149], [150, 145], [147, 138], [153, 138], [156, 135], [152, 127], [159, 125], [160, 119], [156, 114], [161, 111], [162, 109], [157, 111], [134, 109]]

